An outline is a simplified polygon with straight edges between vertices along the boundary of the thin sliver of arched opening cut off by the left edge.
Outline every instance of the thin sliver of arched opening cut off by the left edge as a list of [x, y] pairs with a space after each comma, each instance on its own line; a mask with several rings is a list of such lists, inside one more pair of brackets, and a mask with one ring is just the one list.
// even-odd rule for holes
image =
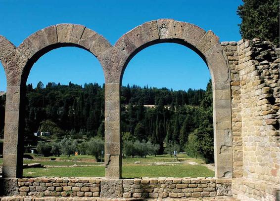
[[4, 124], [5, 124], [5, 103], [6, 103], [6, 76], [4, 68], [0, 63], [0, 176], [2, 175], [3, 165], [3, 141], [4, 141]]

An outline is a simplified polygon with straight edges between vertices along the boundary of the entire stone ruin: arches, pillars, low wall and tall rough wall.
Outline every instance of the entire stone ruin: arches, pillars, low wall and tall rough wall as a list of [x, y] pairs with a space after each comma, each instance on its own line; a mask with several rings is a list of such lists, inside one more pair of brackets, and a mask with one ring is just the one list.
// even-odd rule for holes
[[[192, 49], [209, 68], [213, 84], [214, 178], [122, 179], [122, 77], [138, 52], [163, 42]], [[91, 52], [103, 68], [106, 176], [22, 178], [26, 81], [42, 55], [64, 46]], [[7, 80], [0, 200], [17, 196], [30, 201], [77, 197], [276, 201], [280, 191], [279, 51], [271, 42], [258, 39], [220, 42], [212, 31], [173, 19], [146, 22], [123, 35], [115, 45], [76, 24], [49, 26], [18, 47], [0, 36], [0, 61]]]

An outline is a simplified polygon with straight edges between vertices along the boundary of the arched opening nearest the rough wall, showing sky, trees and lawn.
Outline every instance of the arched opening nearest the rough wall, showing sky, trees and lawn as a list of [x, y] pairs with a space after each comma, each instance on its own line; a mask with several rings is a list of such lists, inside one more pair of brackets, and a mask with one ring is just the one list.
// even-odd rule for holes
[[214, 176], [206, 165], [214, 163], [210, 78], [201, 57], [176, 43], [130, 60], [121, 89], [123, 177]]

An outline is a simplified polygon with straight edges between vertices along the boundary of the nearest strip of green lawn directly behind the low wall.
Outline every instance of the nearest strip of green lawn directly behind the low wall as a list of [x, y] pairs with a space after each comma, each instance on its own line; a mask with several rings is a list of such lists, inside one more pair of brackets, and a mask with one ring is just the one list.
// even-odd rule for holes
[[[53, 167], [53, 168], [28, 168], [24, 169], [23, 175], [26, 177], [38, 176], [105, 176], [104, 166], [94, 167]], [[124, 178], [135, 177], [213, 177], [214, 172], [202, 165], [134, 165], [125, 164], [122, 168]]]

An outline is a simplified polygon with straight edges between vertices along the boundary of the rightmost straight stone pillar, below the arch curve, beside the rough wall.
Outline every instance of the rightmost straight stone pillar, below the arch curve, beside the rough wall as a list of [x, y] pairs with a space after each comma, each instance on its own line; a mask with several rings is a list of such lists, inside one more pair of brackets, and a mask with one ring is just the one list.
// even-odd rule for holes
[[233, 177], [231, 89], [229, 82], [213, 83], [215, 176]]

